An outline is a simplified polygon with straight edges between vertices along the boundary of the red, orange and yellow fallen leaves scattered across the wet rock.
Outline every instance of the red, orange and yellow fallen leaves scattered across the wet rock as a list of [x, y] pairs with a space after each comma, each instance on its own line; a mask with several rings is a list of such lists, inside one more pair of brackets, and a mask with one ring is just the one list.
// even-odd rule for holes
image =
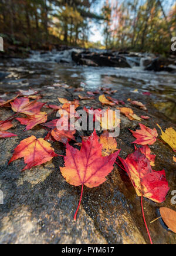
[[[108, 88], [101, 88], [101, 91], [106, 94], [112, 94], [113, 92]], [[108, 92], [108, 93], [107, 93]], [[155, 127], [147, 127], [144, 124], [138, 123], [140, 129], [130, 130], [136, 140], [134, 145], [134, 152], [130, 155], [127, 155], [126, 159], [123, 159], [119, 156], [120, 149], [117, 145], [116, 138], [109, 137], [109, 133], [104, 131], [97, 135], [96, 130], [90, 136], [82, 136], [82, 142], [77, 141], [75, 127], [72, 127], [72, 124], [69, 123], [68, 127], [65, 127], [66, 116], [70, 118], [75, 117], [74, 113], [70, 113], [69, 106], [74, 105], [75, 109], [80, 106], [79, 100], [67, 100], [64, 98], [58, 98], [61, 105], [51, 105], [45, 104], [38, 101], [42, 96], [36, 95], [38, 92], [35, 91], [21, 91], [21, 94], [13, 97], [9, 100], [0, 101], [1, 106], [11, 106], [12, 110], [15, 112], [13, 116], [9, 117], [4, 121], [0, 121], [0, 137], [14, 137], [17, 134], [6, 132], [6, 130], [13, 127], [13, 119], [18, 120], [22, 125], [25, 125], [25, 131], [33, 129], [37, 125], [42, 125], [43, 129], [48, 130], [48, 134], [43, 138], [36, 138], [35, 136], [29, 136], [21, 140], [19, 145], [15, 147], [13, 156], [9, 160], [9, 164], [14, 160], [19, 158], [24, 159], [26, 166], [22, 170], [31, 169], [34, 166], [42, 165], [53, 159], [53, 157], [60, 157], [63, 155], [58, 155], [55, 153], [55, 149], [48, 142], [61, 142], [66, 146], [66, 155], [64, 155], [64, 166], [60, 167], [60, 172], [62, 173], [63, 178], [66, 182], [73, 186], [82, 186], [81, 196], [79, 205], [75, 212], [74, 219], [76, 220], [76, 215], [80, 206], [80, 202], [83, 196], [83, 186], [89, 188], [97, 187], [103, 182], [106, 182], [107, 175], [113, 170], [114, 163], [117, 163], [117, 157], [121, 161], [121, 169], [124, 169], [131, 180], [131, 183], [134, 186], [134, 189], [137, 193], [137, 196], [141, 196], [141, 207], [143, 212], [143, 218], [145, 226], [147, 228], [147, 223], [144, 217], [143, 211], [143, 197], [148, 198], [154, 202], [161, 203], [165, 200], [168, 190], [167, 179], [165, 177], [165, 170], [153, 170], [152, 166], [155, 166], [155, 155], [151, 153], [151, 149], [148, 145], [153, 145], [158, 137], [158, 132]], [[87, 94], [94, 95], [98, 92], [87, 92]], [[24, 97], [21, 97], [21, 96]], [[20, 97], [19, 97], [20, 96]], [[35, 96], [34, 100], [29, 100], [29, 97]], [[98, 96], [102, 104], [108, 105], [104, 111], [109, 110], [109, 107], [113, 109], [119, 109], [120, 113], [123, 114], [124, 118], [129, 119], [131, 122], [140, 121], [134, 111], [129, 107], [120, 107], [119, 104], [124, 104], [121, 100], [113, 99], [108, 96], [108, 99], [104, 94]], [[92, 97], [81, 96], [79, 95], [80, 100], [91, 99]], [[137, 105], [144, 111], [147, 110], [143, 103], [140, 101], [130, 101], [131, 104]], [[41, 111], [42, 107], [46, 109], [51, 109], [52, 111], [59, 112], [61, 118], [49, 120], [47, 122], [49, 114], [45, 111]], [[86, 107], [83, 108], [86, 113], [89, 113], [89, 109]], [[90, 109], [93, 110], [93, 109]], [[117, 121], [116, 115], [113, 115], [113, 118], [109, 120], [109, 127], [107, 124], [103, 123], [103, 120], [98, 116], [100, 109], [94, 110], [93, 122], [100, 122], [100, 126], [104, 129], [110, 129], [114, 126], [115, 120]], [[16, 115], [19, 115], [16, 117]], [[22, 115], [22, 116], [20, 116]], [[15, 117], [14, 117], [15, 116]], [[141, 116], [142, 117], [142, 116]], [[77, 117], [75, 117], [77, 118]], [[148, 119], [147, 116], [143, 116], [143, 119]], [[63, 122], [63, 128], [60, 127], [61, 122]], [[121, 120], [119, 119], [118, 125], [120, 125]], [[157, 124], [158, 125], [158, 124]], [[72, 129], [70, 129], [72, 127]], [[161, 129], [161, 127], [158, 125]], [[173, 150], [175, 147], [175, 130], [173, 128], [168, 128], [163, 132], [161, 129], [161, 138], [166, 142]], [[48, 140], [48, 141], [46, 141]], [[71, 146], [70, 141], [75, 143]], [[140, 146], [139, 146], [140, 145]], [[76, 147], [80, 146], [79, 149]], [[173, 156], [175, 161], [175, 157]], [[118, 164], [118, 163], [117, 163]], [[119, 164], [118, 164], [119, 165]], [[167, 215], [167, 210], [161, 209], [161, 215], [163, 219]], [[168, 210], [169, 211], [169, 210]], [[173, 215], [175, 219], [175, 214], [171, 211], [168, 212], [169, 215]], [[168, 221], [165, 221], [168, 223]], [[168, 223], [168, 226], [172, 228], [175, 232], [175, 226], [173, 227], [172, 223]], [[150, 232], [148, 231], [148, 236], [150, 242], [152, 243]]]

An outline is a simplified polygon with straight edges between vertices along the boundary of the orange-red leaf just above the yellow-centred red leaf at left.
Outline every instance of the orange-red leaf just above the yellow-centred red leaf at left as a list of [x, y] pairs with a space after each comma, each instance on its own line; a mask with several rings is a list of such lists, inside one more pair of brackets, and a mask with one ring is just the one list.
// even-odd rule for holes
[[26, 131], [31, 130], [34, 126], [40, 123], [45, 123], [47, 121], [47, 113], [46, 112], [39, 112], [38, 114], [33, 114], [27, 117], [18, 117], [18, 120], [21, 124], [26, 125]]

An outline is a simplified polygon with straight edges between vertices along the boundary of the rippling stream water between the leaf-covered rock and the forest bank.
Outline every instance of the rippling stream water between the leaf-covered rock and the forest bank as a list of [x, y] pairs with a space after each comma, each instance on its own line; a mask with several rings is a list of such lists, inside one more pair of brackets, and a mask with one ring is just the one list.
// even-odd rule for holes
[[[59, 58], [70, 63], [58, 63]], [[154, 96], [154, 107], [176, 121], [176, 73], [145, 71], [143, 67], [131, 68], [87, 67], [76, 65], [69, 51], [32, 52], [26, 59], [0, 60], [0, 93], [16, 88], [39, 88], [53, 83], [66, 83], [95, 90], [100, 86], [119, 91], [140, 89]], [[1, 95], [0, 95], [1, 97]], [[132, 98], [133, 99], [133, 98]]]

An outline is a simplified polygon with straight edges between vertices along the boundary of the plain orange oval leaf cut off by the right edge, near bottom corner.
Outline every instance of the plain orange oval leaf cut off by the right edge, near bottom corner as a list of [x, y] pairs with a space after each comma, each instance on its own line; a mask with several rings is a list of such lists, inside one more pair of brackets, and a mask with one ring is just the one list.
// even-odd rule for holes
[[176, 212], [167, 207], [160, 207], [160, 214], [167, 227], [176, 233]]

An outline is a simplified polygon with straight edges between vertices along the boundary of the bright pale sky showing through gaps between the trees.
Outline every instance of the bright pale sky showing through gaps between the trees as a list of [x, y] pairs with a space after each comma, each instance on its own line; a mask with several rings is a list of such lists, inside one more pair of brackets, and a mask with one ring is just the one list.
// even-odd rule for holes
[[[109, 0], [110, 2], [116, 1], [116, 0]], [[122, 0], [119, 0], [119, 2]], [[129, 0], [130, 1], [130, 0]], [[131, 0], [133, 1], [133, 0]], [[163, 3], [163, 7], [165, 12], [167, 12], [171, 5], [174, 4], [175, 0], [164, 0]], [[99, 4], [97, 4], [96, 6], [93, 6], [92, 11], [96, 12], [97, 14], [101, 14], [101, 8], [104, 5], [104, 2], [106, 2], [106, 0], [100, 0]], [[141, 0], [141, 2], [145, 2], [145, 0]], [[103, 44], [104, 42], [104, 37], [103, 37], [103, 24], [101, 22], [101, 24], [97, 24], [96, 22], [90, 22], [91, 28], [90, 28], [90, 35], [89, 35], [89, 40], [91, 42], [97, 42], [100, 41], [101, 44]]]

